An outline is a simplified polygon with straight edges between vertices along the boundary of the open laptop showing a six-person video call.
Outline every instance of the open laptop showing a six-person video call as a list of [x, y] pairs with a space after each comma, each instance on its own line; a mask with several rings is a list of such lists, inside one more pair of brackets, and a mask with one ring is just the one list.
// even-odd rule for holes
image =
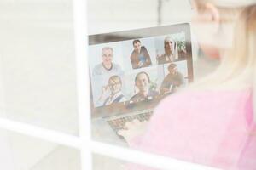
[[189, 24], [91, 35], [89, 69], [92, 137], [122, 140], [125, 122], [193, 81]]

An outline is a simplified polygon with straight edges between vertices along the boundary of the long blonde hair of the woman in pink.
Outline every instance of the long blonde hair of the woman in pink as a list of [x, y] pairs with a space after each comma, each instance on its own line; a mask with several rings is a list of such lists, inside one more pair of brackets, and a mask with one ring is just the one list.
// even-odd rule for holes
[[[254, 17], [254, 18], [253, 18]], [[256, 57], [256, 5], [245, 8], [236, 28], [232, 48], [221, 61], [217, 71], [192, 84], [192, 89], [253, 88]], [[253, 71], [254, 69], [254, 71]], [[256, 77], [255, 77], [256, 78]], [[256, 88], [254, 88], [256, 90]]]

